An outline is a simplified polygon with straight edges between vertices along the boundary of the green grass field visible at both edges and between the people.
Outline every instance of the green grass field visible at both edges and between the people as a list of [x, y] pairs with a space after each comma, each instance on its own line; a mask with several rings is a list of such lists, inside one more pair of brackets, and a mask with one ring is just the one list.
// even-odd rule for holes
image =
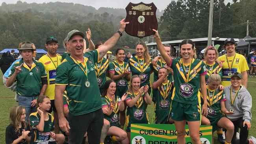
[[[5, 130], [6, 127], [9, 125], [9, 111], [11, 107], [17, 105], [18, 103], [14, 100], [15, 92], [12, 92], [11, 90], [7, 89], [3, 85], [2, 81], [2, 72], [0, 72], [0, 144], [5, 144]], [[150, 79], [152, 80], [153, 75], [150, 76]], [[252, 95], [252, 105], [256, 104], [256, 99], [254, 98], [256, 96], [256, 78], [248, 78], [248, 86], [247, 89], [249, 90], [250, 94]], [[255, 116], [256, 109], [254, 106], [252, 106], [252, 116]], [[154, 108], [153, 105], [149, 105], [147, 108], [147, 113], [149, 116], [150, 124], [153, 122], [153, 113]], [[252, 117], [252, 128], [249, 131], [249, 136], [256, 136], [256, 118]], [[214, 138], [214, 143], [218, 144], [216, 139], [216, 134]]]

